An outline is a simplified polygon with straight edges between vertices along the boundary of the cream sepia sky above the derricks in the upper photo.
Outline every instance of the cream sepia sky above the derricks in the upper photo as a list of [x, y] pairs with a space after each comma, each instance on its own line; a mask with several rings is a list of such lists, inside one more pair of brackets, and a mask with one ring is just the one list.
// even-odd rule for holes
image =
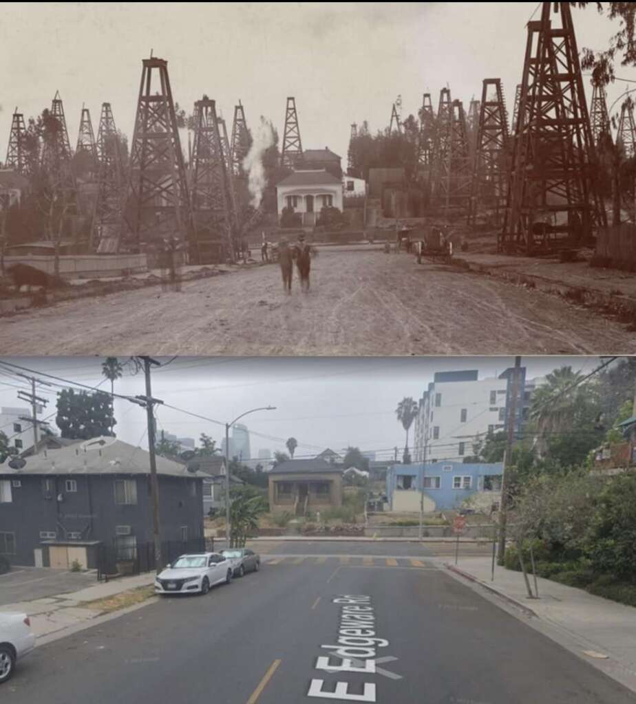
[[[539, 4], [540, 5], [540, 4]], [[604, 49], [618, 30], [594, 10], [575, 10], [579, 46]], [[59, 89], [73, 147], [82, 103], [97, 131], [102, 102], [132, 135], [142, 58], [169, 62], [173, 96], [189, 112], [203, 93], [231, 122], [243, 101], [281, 137], [286, 96], [296, 98], [302, 145], [329, 146], [346, 166], [351, 122], [389, 123], [391, 104], [416, 113], [441, 87], [470, 101], [501, 77], [512, 111], [525, 25], [534, 2], [513, 3], [3, 3], [0, 25], [0, 159], [11, 113], [50, 107]], [[537, 15], [539, 16], [539, 15]], [[620, 77], [636, 80], [632, 68]], [[587, 83], [587, 81], [586, 81]], [[610, 101], [625, 83], [609, 90]], [[619, 104], [620, 109], [620, 104]]]

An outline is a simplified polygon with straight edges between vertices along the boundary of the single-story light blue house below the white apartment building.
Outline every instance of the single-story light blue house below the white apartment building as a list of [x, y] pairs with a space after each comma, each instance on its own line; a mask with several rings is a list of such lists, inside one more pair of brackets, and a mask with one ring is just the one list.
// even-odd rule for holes
[[471, 499], [476, 510], [499, 505], [503, 463], [468, 464], [436, 462], [426, 465], [391, 465], [386, 473], [389, 510], [419, 513], [424, 489], [424, 513], [461, 508]]

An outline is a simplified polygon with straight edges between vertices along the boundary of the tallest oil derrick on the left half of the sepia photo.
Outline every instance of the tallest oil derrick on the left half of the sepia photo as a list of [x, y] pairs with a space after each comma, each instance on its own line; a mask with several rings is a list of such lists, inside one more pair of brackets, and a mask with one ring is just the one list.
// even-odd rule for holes
[[185, 241], [190, 201], [168, 62], [145, 58], [130, 144], [128, 199], [121, 237], [133, 251]]

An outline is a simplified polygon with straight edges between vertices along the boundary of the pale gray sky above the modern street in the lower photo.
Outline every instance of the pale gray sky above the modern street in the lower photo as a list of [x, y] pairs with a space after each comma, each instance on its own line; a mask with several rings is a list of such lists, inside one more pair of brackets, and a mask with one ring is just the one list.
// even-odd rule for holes
[[[163, 363], [169, 358], [159, 358]], [[3, 358], [37, 372], [109, 390], [101, 374], [102, 358]], [[124, 361], [122, 358], [121, 361]], [[563, 365], [592, 371], [597, 357], [524, 357], [528, 377], [537, 377]], [[395, 408], [404, 396], [417, 400], [435, 372], [479, 370], [480, 378], [493, 377], [514, 364], [511, 357], [394, 357], [394, 358], [187, 358], [173, 360], [152, 374], [153, 396], [171, 406], [205, 417], [231, 422], [250, 408], [276, 406], [245, 418], [250, 429], [252, 455], [259, 448], [284, 450], [294, 436], [297, 456], [316, 455], [326, 447], [340, 451], [348, 445], [385, 451], [403, 447], [404, 432]], [[44, 379], [46, 377], [42, 377]], [[50, 381], [51, 379], [49, 379]], [[20, 407], [18, 389], [26, 382], [0, 370], [0, 406]], [[55, 387], [42, 386], [39, 393], [50, 398], [46, 417], [55, 410]], [[144, 394], [142, 374], [128, 371], [116, 382], [118, 394]], [[133, 445], [147, 446], [145, 410], [126, 400], [116, 400], [116, 432]], [[170, 408], [157, 410], [159, 429], [198, 439], [202, 432], [221, 444], [224, 429], [211, 422]], [[54, 417], [51, 418], [54, 425]], [[1, 429], [7, 432], [7, 429]], [[9, 431], [11, 428], [8, 429]], [[267, 439], [254, 432], [271, 436]]]

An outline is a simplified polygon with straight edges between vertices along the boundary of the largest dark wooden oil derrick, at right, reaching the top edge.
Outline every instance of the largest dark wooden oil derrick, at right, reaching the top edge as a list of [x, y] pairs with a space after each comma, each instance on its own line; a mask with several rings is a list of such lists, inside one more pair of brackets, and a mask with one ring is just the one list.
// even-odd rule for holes
[[589, 241], [594, 226], [606, 224], [596, 178], [570, 5], [544, 2], [541, 20], [528, 24], [499, 249], [534, 253]]

